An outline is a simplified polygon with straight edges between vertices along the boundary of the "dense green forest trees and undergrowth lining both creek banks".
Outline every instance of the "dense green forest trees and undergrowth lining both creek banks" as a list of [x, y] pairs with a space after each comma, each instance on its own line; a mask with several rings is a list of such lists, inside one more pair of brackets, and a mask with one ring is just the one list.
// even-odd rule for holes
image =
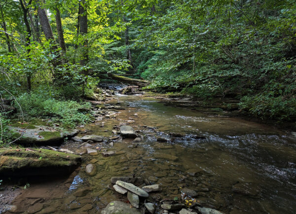
[[99, 78], [125, 73], [295, 121], [295, 14], [295, 0], [1, 0], [0, 95], [74, 126]]

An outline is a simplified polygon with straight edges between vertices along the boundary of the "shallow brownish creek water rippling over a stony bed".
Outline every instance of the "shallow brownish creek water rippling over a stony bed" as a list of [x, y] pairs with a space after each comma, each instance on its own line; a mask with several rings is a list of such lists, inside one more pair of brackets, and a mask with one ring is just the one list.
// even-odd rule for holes
[[[119, 110], [116, 118], [103, 120], [104, 127], [100, 126], [103, 121], [97, 121], [81, 129], [110, 137], [114, 125], [133, 119], [129, 125], [139, 130], [144, 140], [97, 145], [117, 154], [84, 154], [80, 170], [69, 178], [32, 184], [16, 204], [26, 208], [41, 204], [43, 213], [50, 209], [53, 213], [100, 213], [113, 200], [127, 200], [112, 190], [110, 178], [135, 175], [162, 185], [161, 192], [148, 198], [155, 203], [176, 196], [180, 199], [180, 186], [186, 186], [198, 193], [195, 199], [200, 204], [223, 213], [295, 212], [296, 138], [291, 133], [240, 118], [220, 117], [217, 112], [169, 107], [142, 96], [117, 96], [112, 102], [120, 102], [125, 109]], [[186, 137], [156, 142], [157, 136], [168, 137], [171, 132]], [[206, 139], [194, 139], [193, 135]], [[79, 145], [69, 142], [62, 147], [79, 152]], [[93, 177], [84, 171], [88, 163], [97, 167]], [[77, 193], [84, 189], [86, 194]], [[38, 198], [42, 200], [36, 201]]]

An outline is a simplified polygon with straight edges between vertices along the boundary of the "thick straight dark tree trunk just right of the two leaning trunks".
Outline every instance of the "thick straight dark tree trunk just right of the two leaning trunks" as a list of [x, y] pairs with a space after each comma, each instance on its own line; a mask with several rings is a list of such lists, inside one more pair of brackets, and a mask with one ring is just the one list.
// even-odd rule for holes
[[[80, 35], [86, 36], [87, 35], [87, 5], [86, 1], [83, 0], [83, 6], [80, 7], [80, 18], [79, 18], [79, 32]], [[88, 63], [88, 41], [87, 38], [83, 39], [81, 44], [82, 46], [82, 57], [80, 59], [80, 65], [86, 66]], [[88, 71], [83, 71], [84, 75], [88, 74]]]

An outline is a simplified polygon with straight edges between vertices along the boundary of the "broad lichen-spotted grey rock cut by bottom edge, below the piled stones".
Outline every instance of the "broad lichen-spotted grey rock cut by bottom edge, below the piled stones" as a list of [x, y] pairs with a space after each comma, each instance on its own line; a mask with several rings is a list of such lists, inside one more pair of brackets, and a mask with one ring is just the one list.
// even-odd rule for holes
[[101, 214], [141, 214], [137, 208], [131, 208], [130, 204], [121, 201], [110, 202]]

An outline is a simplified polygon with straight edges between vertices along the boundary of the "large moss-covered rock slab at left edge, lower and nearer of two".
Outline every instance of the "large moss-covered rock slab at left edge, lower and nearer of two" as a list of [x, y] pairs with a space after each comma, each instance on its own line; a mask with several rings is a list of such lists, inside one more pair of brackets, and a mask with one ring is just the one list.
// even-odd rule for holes
[[75, 154], [48, 149], [0, 149], [0, 176], [68, 175], [81, 164]]

